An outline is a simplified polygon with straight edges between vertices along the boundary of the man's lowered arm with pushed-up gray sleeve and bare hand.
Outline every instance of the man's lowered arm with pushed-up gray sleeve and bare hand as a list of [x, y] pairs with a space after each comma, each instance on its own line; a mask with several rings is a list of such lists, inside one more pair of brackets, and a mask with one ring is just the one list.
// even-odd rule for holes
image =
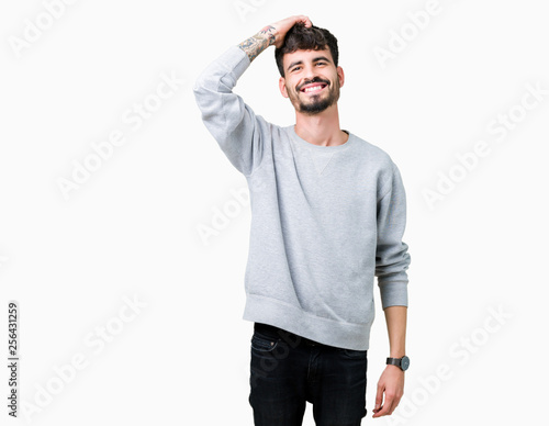
[[[378, 202], [376, 276], [389, 335], [390, 357], [406, 355], [407, 273], [411, 257], [402, 242], [406, 225], [406, 195], [399, 168], [392, 162], [389, 189]], [[404, 393], [404, 371], [386, 366], [378, 382], [373, 417], [390, 415]], [[384, 401], [383, 401], [384, 395]], [[382, 405], [383, 403], [383, 405]]]

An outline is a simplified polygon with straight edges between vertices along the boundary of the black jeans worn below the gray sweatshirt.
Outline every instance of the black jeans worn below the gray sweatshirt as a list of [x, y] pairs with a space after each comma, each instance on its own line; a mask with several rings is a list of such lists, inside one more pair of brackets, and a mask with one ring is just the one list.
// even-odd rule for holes
[[250, 394], [256, 426], [357, 426], [366, 416], [367, 350], [336, 348], [256, 323]]

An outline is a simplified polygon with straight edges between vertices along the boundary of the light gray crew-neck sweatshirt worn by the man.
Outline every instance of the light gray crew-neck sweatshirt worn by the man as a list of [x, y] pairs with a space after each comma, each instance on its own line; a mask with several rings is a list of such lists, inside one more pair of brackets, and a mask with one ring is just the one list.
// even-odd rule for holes
[[374, 276], [383, 310], [407, 306], [400, 171], [384, 150], [348, 131], [343, 145], [318, 146], [294, 125], [256, 115], [233, 93], [249, 65], [231, 46], [193, 87], [206, 128], [249, 189], [244, 320], [366, 350]]

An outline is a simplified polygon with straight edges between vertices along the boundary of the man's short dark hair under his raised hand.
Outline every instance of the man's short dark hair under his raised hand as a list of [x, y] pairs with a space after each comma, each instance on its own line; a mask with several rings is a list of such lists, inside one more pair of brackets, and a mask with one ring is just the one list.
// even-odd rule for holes
[[334, 64], [337, 67], [337, 61], [339, 59], [337, 38], [328, 30], [320, 29], [315, 25], [307, 29], [303, 22], [296, 23], [285, 34], [282, 46], [274, 49], [274, 59], [277, 60], [280, 76], [285, 77], [284, 67], [282, 65], [284, 54], [300, 49], [324, 51], [326, 46], [329, 48]]

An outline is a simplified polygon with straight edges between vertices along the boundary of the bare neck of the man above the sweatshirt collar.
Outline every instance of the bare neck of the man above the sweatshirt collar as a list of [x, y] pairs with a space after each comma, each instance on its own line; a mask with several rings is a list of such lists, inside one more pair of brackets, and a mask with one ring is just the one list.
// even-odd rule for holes
[[295, 133], [302, 139], [321, 146], [341, 145], [349, 138], [339, 128], [337, 103], [314, 115], [295, 111]]

